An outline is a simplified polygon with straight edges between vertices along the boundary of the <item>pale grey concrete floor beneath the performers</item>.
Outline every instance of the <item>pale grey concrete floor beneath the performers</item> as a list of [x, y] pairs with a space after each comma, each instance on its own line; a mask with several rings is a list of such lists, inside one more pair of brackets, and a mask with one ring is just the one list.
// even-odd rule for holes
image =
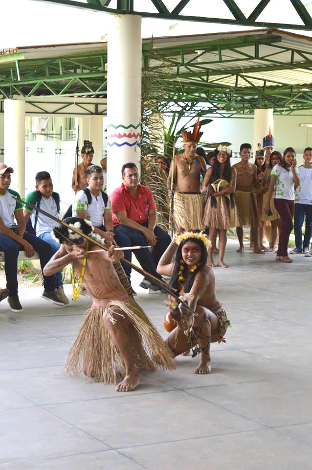
[[[190, 357], [173, 373], [142, 374], [130, 393], [64, 375], [88, 300], [61, 308], [24, 289], [20, 314], [3, 301], [0, 469], [311, 469], [312, 258], [288, 265], [236, 248], [230, 240], [230, 268], [215, 269], [233, 327], [212, 345], [207, 376]], [[134, 277], [136, 300], [165, 334], [164, 296]]]

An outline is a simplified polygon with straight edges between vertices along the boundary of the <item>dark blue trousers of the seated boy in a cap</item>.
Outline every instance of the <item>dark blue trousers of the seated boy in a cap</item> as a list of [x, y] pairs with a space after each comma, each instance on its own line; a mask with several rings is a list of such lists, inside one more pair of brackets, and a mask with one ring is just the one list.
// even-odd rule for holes
[[[52, 258], [53, 251], [51, 245], [35, 235], [24, 233], [24, 240], [30, 243], [40, 257], [40, 265], [43, 270], [46, 263]], [[17, 258], [19, 256], [20, 246], [7, 235], [0, 234], [0, 251], [4, 252], [4, 269], [6, 277], [6, 287], [10, 295], [16, 295], [18, 292], [17, 281]], [[47, 292], [55, 289], [55, 276], [43, 276], [44, 286]]]

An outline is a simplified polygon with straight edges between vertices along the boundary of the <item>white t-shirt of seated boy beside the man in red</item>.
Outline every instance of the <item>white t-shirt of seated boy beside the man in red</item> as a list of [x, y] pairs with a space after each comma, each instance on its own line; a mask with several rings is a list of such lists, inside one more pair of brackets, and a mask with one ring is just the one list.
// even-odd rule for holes
[[86, 193], [81, 189], [77, 192], [74, 202], [72, 203], [72, 215], [77, 216], [77, 211], [86, 211], [87, 220], [89, 220], [95, 227], [104, 225], [103, 215], [105, 210], [110, 210], [110, 200], [105, 207], [102, 194], [100, 193], [97, 197], [91, 195], [91, 204], [88, 206], [88, 198]]

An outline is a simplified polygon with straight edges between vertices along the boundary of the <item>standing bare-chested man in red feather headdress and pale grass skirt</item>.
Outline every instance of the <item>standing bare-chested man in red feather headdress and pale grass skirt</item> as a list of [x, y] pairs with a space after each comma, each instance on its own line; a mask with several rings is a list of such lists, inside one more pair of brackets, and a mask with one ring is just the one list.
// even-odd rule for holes
[[[204, 177], [206, 163], [202, 157], [196, 155], [196, 147], [202, 132], [198, 119], [193, 132], [182, 131], [182, 154], [176, 155], [170, 166], [167, 187], [175, 184], [173, 197], [173, 219], [178, 233], [183, 230], [203, 230], [202, 223], [204, 195], [201, 194], [201, 175]], [[173, 179], [173, 180], [172, 180]]]

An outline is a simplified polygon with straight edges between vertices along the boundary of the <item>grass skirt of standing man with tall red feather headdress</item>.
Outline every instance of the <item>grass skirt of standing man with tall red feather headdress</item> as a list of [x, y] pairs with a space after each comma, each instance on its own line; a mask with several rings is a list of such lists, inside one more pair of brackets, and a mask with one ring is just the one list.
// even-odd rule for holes
[[204, 194], [183, 194], [175, 192], [173, 198], [173, 218], [176, 230], [204, 230], [202, 221]]

